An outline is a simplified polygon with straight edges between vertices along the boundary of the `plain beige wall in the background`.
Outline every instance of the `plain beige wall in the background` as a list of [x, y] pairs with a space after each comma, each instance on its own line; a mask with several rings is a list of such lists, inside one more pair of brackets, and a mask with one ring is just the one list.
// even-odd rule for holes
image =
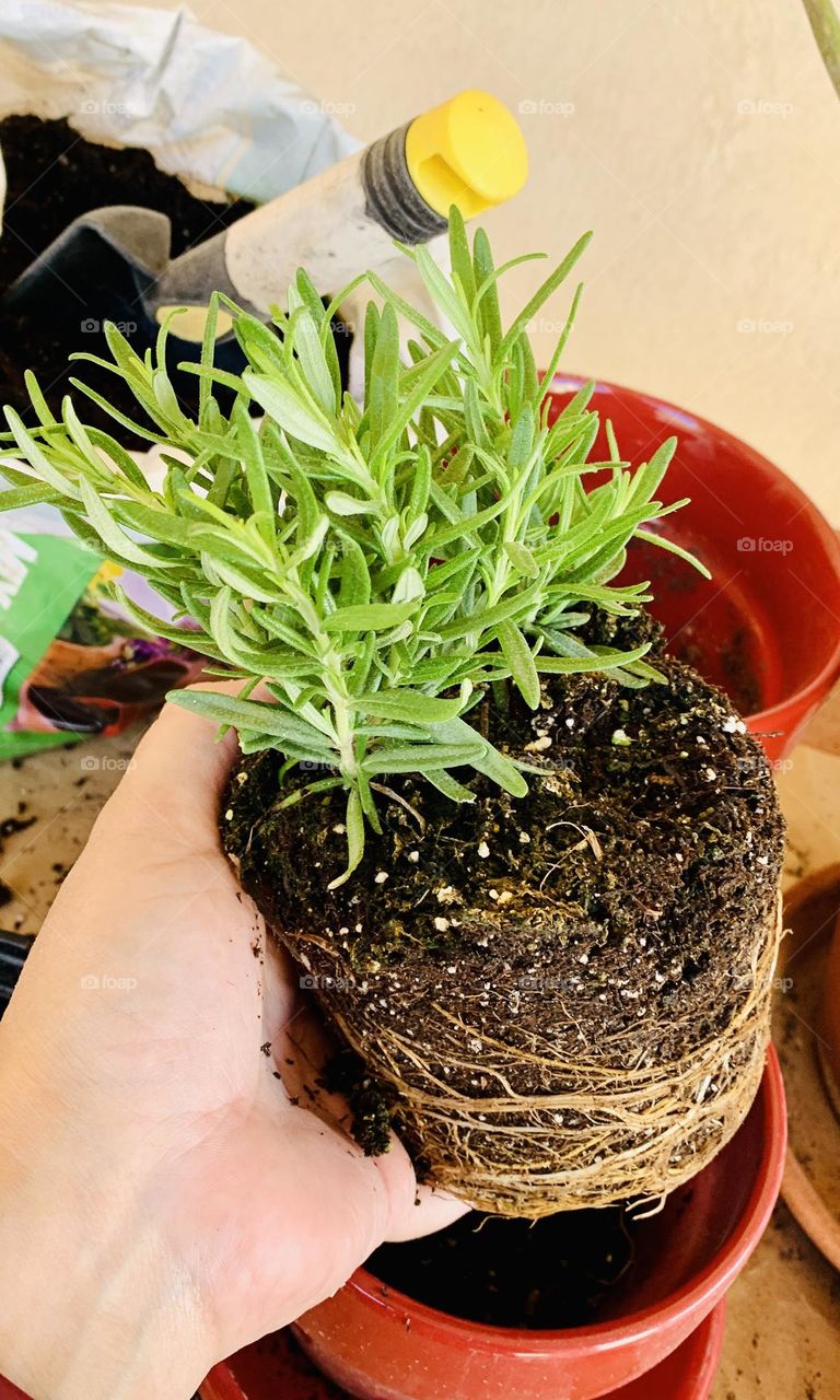
[[504, 256], [595, 230], [567, 368], [715, 419], [840, 525], [840, 102], [801, 0], [192, 7], [361, 137], [468, 85], [535, 106], [529, 183], [487, 223]]

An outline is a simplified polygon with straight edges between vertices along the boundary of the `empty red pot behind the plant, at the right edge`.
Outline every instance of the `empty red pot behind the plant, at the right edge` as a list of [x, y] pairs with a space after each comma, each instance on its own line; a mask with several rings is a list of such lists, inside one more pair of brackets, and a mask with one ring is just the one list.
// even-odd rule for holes
[[[554, 379], [556, 412], [582, 382]], [[679, 437], [659, 494], [692, 500], [662, 532], [713, 578], [634, 542], [622, 581], [651, 580], [671, 651], [731, 694], [771, 760], [784, 757], [840, 676], [837, 538], [784, 472], [713, 423], [613, 384], [598, 385], [592, 406], [633, 463]], [[608, 456], [603, 431], [595, 454]]]

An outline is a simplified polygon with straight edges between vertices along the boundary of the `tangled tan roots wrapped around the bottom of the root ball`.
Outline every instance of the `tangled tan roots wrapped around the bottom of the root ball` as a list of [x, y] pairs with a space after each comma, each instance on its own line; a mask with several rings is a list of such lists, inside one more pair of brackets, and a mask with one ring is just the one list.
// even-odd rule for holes
[[[729, 1141], [756, 1096], [770, 1039], [771, 984], [781, 935], [781, 902], [759, 930], [750, 973], [732, 979], [722, 1030], [694, 1043], [685, 1018], [685, 1056], [662, 1063], [638, 1029], [582, 1040], [580, 1058], [559, 1058], [549, 1042], [511, 1046], [430, 1002], [423, 1053], [395, 1025], [329, 993], [322, 1001], [343, 1039], [396, 1098], [395, 1127], [427, 1182], [497, 1215], [538, 1219], [556, 1211], [655, 1201], [700, 1172]], [[340, 953], [297, 938], [293, 952], [322, 984], [347, 977]], [[339, 981], [340, 984], [340, 981]], [[368, 1007], [375, 1007], [375, 998]], [[673, 1043], [675, 1025], [647, 1023]], [[452, 1036], [455, 1032], [455, 1036]], [[440, 1053], [434, 1053], [435, 1039]], [[454, 1046], [479, 1050], [475, 1064]], [[473, 1071], [475, 1098], [455, 1092], [445, 1070]], [[529, 1065], [535, 1092], [511, 1086]], [[479, 1081], [480, 1077], [480, 1081]], [[461, 1074], [461, 1078], [463, 1075]]]

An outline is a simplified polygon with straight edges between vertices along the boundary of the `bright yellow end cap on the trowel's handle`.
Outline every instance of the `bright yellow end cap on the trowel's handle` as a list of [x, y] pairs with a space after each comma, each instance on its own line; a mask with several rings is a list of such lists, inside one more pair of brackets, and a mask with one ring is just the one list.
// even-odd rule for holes
[[456, 204], [473, 218], [522, 189], [528, 148], [507, 106], [490, 92], [468, 88], [412, 122], [406, 164], [431, 209], [448, 214]]

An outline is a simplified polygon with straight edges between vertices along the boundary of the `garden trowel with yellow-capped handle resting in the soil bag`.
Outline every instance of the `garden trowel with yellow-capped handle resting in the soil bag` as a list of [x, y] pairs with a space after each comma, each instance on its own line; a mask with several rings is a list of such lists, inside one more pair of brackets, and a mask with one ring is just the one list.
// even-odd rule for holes
[[[416, 118], [314, 179], [245, 214], [169, 260], [169, 220], [134, 206], [76, 218], [6, 293], [20, 315], [113, 321], [129, 340], [151, 343], [174, 307], [195, 308], [174, 330], [200, 342], [213, 291], [267, 319], [298, 267], [321, 294], [339, 291], [393, 256], [393, 239], [423, 244], [448, 225], [510, 199], [528, 168], [515, 118], [469, 90]], [[60, 309], [66, 308], [66, 309]], [[230, 330], [224, 319], [218, 333]]]

